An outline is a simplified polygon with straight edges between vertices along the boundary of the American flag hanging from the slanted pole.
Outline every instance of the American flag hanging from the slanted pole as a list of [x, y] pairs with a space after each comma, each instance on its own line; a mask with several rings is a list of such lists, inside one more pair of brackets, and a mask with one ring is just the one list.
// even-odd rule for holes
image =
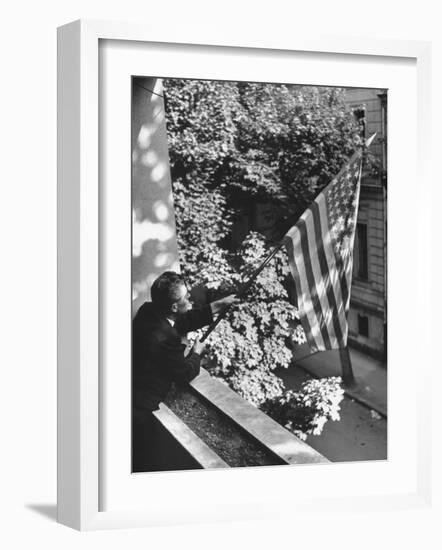
[[312, 351], [347, 345], [361, 165], [358, 151], [284, 236], [299, 315]]

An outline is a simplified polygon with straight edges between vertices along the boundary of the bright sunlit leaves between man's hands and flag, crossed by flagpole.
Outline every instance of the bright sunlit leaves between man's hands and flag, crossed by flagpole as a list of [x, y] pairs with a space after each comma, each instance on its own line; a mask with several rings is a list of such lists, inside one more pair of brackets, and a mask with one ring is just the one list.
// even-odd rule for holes
[[[263, 237], [251, 233], [234, 257], [236, 280], [248, 280], [251, 269], [267, 254]], [[285, 251], [280, 250], [254, 280], [240, 305], [207, 339], [207, 365], [213, 376], [257, 406], [281, 394], [283, 383], [274, 371], [287, 367], [292, 360], [287, 342], [304, 338], [297, 325], [298, 312], [288, 301], [283, 285], [288, 273]]]

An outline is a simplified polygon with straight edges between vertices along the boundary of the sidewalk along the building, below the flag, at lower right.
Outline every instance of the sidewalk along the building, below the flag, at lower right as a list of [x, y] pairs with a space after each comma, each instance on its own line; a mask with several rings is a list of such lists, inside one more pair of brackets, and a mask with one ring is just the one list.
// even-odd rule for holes
[[[341, 376], [339, 351], [324, 351], [310, 354], [305, 344], [294, 352], [294, 363], [315, 378]], [[356, 385], [345, 388], [345, 393], [370, 409], [387, 417], [387, 369], [383, 363], [350, 348], [350, 357]], [[289, 367], [290, 368], [290, 367]]]

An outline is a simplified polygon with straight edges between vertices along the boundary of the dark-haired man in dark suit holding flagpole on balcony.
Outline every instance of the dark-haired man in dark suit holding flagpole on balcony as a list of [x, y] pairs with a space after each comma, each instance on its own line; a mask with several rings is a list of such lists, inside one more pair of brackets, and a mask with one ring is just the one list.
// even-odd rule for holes
[[180, 275], [166, 271], [151, 287], [151, 302], [145, 302], [133, 320], [133, 470], [155, 468], [149, 462], [153, 434], [152, 411], [158, 409], [172, 382], [190, 382], [200, 371], [204, 343], [197, 340], [185, 355], [182, 338], [210, 324], [234, 295], [192, 309], [189, 292]]

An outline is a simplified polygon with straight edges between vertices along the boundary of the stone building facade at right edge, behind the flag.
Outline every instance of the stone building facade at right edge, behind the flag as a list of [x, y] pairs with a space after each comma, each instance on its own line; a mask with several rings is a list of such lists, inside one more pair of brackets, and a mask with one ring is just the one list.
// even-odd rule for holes
[[347, 103], [368, 138], [376, 169], [365, 167], [354, 247], [349, 343], [386, 358], [387, 345], [387, 93], [348, 89]]

